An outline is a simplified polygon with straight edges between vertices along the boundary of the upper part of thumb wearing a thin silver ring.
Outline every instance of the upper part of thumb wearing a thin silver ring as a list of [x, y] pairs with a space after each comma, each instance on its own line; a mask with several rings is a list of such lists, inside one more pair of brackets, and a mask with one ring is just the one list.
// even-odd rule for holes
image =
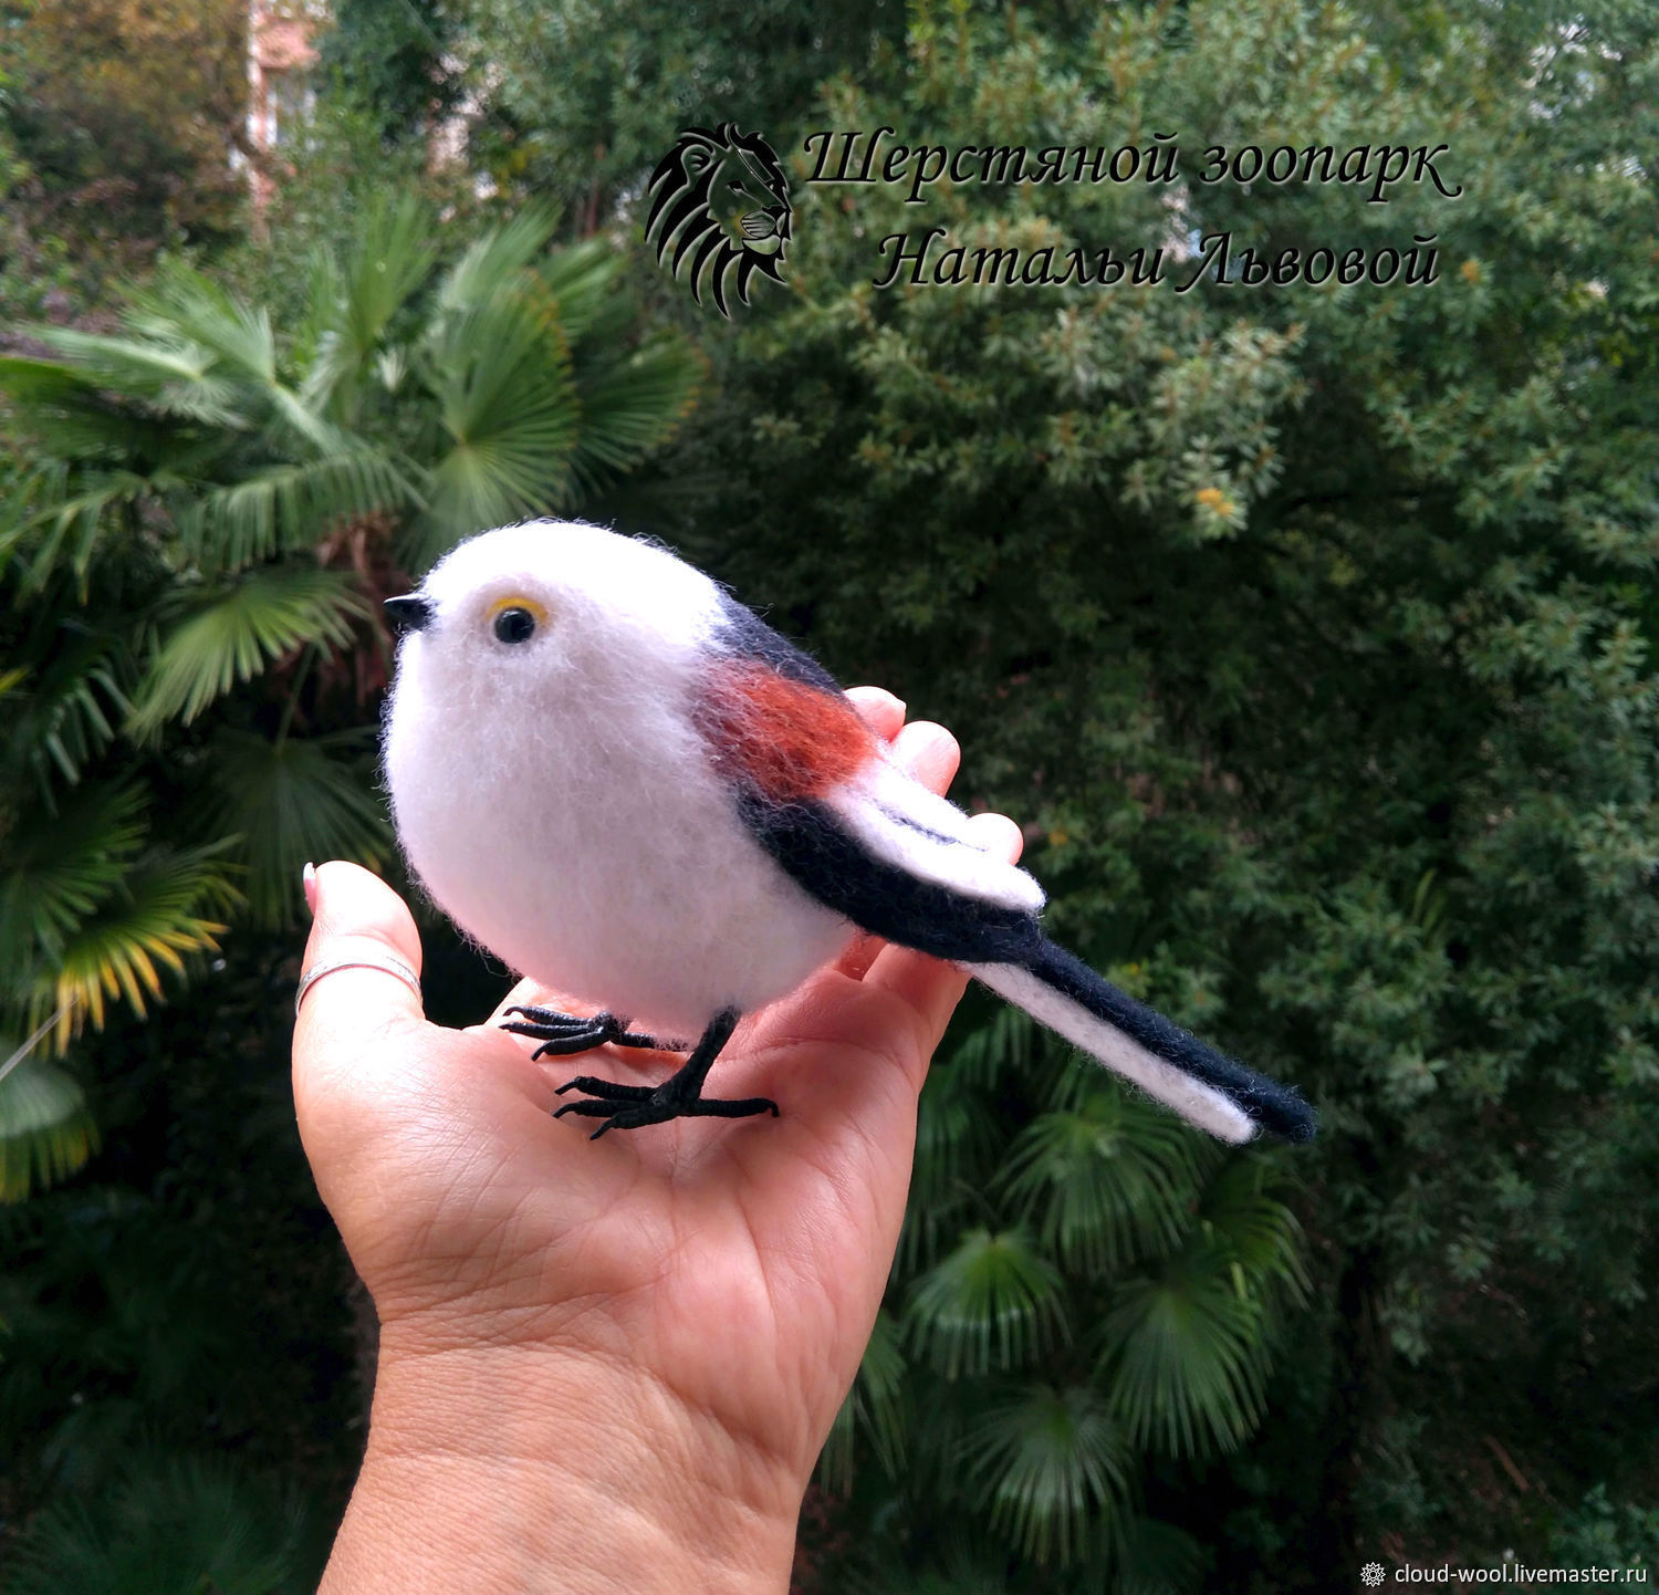
[[317, 1057], [320, 1051], [355, 1049], [383, 1037], [388, 1029], [420, 1024], [420, 996], [403, 976], [392, 973], [403, 964], [420, 976], [420, 933], [403, 898], [378, 875], [340, 861], [322, 865], [309, 885], [312, 931], [300, 978], [312, 971], [330, 973], [320, 974], [300, 1001], [294, 1026], [295, 1062]]

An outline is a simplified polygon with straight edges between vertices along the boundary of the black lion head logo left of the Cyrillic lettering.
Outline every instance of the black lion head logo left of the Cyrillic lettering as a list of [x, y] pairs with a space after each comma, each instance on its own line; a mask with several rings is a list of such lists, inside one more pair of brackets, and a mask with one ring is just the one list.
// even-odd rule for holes
[[738, 133], [732, 121], [713, 131], [685, 128], [657, 163], [645, 193], [650, 194], [645, 242], [655, 242], [657, 264], [669, 262], [675, 280], [680, 267], [690, 264], [698, 304], [708, 282], [715, 309], [730, 320], [727, 285], [733, 274], [743, 304], [755, 272], [783, 280], [790, 179], [758, 133]]

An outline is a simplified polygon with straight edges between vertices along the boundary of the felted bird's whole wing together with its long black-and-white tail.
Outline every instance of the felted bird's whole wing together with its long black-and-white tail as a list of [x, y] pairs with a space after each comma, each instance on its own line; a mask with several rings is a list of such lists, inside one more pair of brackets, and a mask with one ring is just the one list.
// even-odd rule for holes
[[1042, 888], [954, 803], [893, 765], [834, 679], [727, 601], [700, 724], [750, 832], [826, 908], [964, 964], [1150, 1095], [1228, 1142], [1312, 1135], [1306, 1102], [1216, 1052], [1048, 941]]

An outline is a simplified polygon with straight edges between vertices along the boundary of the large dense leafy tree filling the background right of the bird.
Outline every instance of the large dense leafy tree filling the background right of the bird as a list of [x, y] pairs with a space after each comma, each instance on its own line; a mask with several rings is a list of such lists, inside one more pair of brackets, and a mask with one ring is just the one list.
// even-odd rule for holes
[[[1062, 933], [1321, 1107], [1299, 1378], [1236, 1464], [1141, 1474], [1226, 1549], [1211, 1588], [1329, 1587], [1384, 1530], [1541, 1557], [1488, 1436], [1558, 1497], [1652, 1485], [1656, 28], [1623, 3], [922, 7], [904, 68], [833, 85], [818, 126], [1027, 168], [1175, 134], [1176, 181], [909, 204], [909, 173], [813, 186], [798, 154], [790, 294], [710, 339], [667, 534], [962, 732], [967, 793], [1034, 820]], [[1199, 181], [1216, 144], [1438, 143], [1447, 193], [1375, 204]], [[1166, 280], [874, 287], [881, 241], [934, 226], [934, 261], [1161, 247]], [[1417, 236], [1433, 284], [1239, 280], [1244, 249]], [[1108, 1409], [1126, 1366], [1088, 1386]], [[1015, 1456], [1004, 1416], [982, 1456]], [[951, 1489], [972, 1539], [990, 1502]]]

